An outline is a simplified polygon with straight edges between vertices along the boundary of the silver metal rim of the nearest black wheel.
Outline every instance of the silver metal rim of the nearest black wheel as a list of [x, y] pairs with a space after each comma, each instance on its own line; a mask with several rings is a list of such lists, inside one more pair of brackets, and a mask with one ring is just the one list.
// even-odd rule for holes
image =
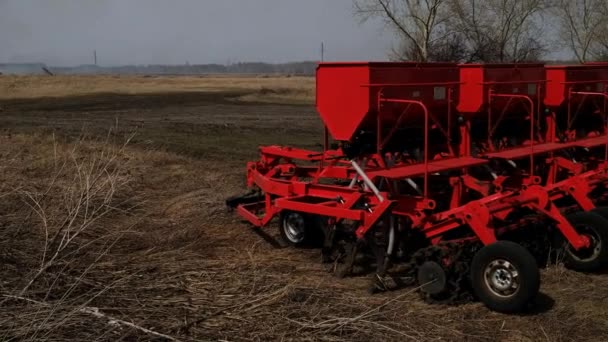
[[519, 273], [507, 260], [494, 260], [485, 268], [484, 278], [488, 288], [501, 297], [513, 296], [519, 289]]

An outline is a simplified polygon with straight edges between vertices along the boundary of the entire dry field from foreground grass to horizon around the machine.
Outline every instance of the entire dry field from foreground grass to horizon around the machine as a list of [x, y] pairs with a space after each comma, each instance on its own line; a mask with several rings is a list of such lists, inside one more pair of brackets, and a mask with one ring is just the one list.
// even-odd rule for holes
[[429, 305], [227, 212], [258, 145], [318, 148], [313, 102], [302, 77], [0, 76], [0, 340], [608, 340], [608, 275], [546, 269], [523, 315]]

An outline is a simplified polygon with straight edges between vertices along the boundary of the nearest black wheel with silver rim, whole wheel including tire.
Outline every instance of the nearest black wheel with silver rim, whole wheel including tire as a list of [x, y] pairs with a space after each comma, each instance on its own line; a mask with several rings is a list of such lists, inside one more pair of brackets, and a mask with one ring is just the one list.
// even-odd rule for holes
[[473, 292], [489, 309], [513, 313], [524, 310], [540, 288], [536, 259], [511, 241], [480, 249], [471, 263]]

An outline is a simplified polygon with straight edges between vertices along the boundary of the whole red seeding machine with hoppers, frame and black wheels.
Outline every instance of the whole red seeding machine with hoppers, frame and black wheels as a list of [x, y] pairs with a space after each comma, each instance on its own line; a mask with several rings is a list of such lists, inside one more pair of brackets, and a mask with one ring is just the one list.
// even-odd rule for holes
[[602, 63], [322, 63], [323, 151], [261, 147], [227, 204], [374, 291], [520, 311], [539, 266], [608, 263], [607, 88]]

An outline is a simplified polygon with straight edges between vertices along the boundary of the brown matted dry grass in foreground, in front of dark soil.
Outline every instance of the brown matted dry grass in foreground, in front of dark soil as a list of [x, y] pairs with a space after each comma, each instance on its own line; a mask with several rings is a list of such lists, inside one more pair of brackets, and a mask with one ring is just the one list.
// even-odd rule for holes
[[[3, 340], [606, 337], [603, 275], [544, 272], [539, 311], [524, 316], [488, 312], [480, 304], [427, 305], [415, 289], [371, 296], [365, 278], [336, 279], [318, 262], [318, 251], [273, 247], [227, 213], [221, 202], [238, 190], [238, 169], [138, 147], [108, 149], [99, 139], [76, 151], [73, 143], [55, 144], [48, 136], [15, 135], [0, 143], [2, 176], [9, 180], [3, 189], [10, 193], [0, 205]], [[40, 269], [46, 241], [44, 221], [21, 205], [30, 197], [25, 194], [40, 198], [54, 184], [52, 197], [38, 202], [48, 217], [69, 217], [57, 204], [74, 203], [65, 195], [73, 193], [78, 171], [70, 166], [57, 173], [63, 163], [56, 161], [106, 165], [115, 152], [119, 169], [128, 170], [117, 173], [127, 182], [110, 202], [120, 210], [83, 232], [70, 253], [23, 291]], [[11, 193], [13, 185], [19, 191]]]

